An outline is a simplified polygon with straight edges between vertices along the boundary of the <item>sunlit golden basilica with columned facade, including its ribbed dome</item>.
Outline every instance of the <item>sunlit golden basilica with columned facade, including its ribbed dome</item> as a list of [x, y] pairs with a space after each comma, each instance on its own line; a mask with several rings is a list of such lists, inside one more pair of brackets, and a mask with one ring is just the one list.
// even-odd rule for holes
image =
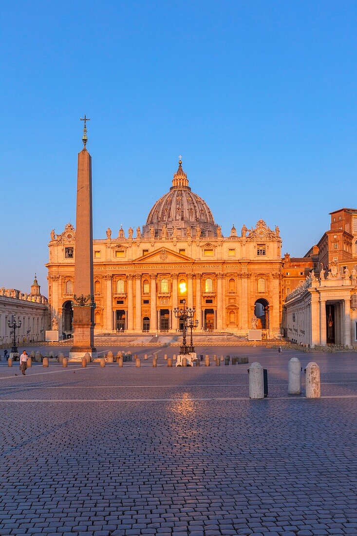
[[[48, 296], [59, 331], [72, 329], [76, 230], [51, 232]], [[197, 330], [279, 337], [282, 258], [279, 228], [263, 220], [222, 236], [205, 201], [189, 187], [181, 160], [172, 186], [143, 227], [93, 240], [95, 333], [176, 333], [174, 309], [195, 307]]]

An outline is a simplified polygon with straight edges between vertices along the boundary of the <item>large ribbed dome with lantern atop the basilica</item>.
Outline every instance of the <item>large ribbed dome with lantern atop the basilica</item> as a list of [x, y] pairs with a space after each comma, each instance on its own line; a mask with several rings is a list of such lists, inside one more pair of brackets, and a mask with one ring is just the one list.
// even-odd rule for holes
[[[201, 230], [201, 236], [217, 236], [217, 225], [207, 203], [188, 185], [187, 174], [182, 169], [182, 161], [178, 161], [178, 169], [174, 174], [172, 187], [152, 207], [143, 227], [144, 236], [150, 235], [154, 228], [155, 236], [161, 236], [162, 228], [166, 227], [167, 236], [171, 236], [174, 228], [177, 236], [187, 236], [187, 229]], [[166, 231], [164, 230], [164, 233]]]

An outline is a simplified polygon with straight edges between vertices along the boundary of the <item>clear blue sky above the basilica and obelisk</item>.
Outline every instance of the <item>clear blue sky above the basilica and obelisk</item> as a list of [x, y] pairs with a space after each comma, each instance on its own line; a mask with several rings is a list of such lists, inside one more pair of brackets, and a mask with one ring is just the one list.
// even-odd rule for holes
[[[87, 114], [93, 232], [145, 224], [178, 155], [229, 234], [302, 256], [356, 207], [356, 2], [2, 2], [0, 286], [47, 294], [75, 225]], [[131, 200], [135, 198], [135, 203]]]

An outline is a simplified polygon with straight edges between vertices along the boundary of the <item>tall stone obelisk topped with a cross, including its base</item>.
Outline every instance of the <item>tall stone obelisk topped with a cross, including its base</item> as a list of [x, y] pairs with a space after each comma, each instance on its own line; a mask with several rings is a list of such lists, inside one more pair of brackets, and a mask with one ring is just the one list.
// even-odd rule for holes
[[92, 158], [86, 149], [84, 116], [83, 149], [78, 153], [77, 210], [75, 245], [75, 285], [73, 294], [73, 346], [71, 360], [81, 360], [86, 352], [96, 357], [94, 348]]

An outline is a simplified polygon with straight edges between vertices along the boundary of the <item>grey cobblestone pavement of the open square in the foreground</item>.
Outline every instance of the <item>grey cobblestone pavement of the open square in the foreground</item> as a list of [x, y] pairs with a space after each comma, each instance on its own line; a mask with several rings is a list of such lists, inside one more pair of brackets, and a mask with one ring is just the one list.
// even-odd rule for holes
[[[237, 349], [268, 369], [265, 400], [248, 399], [247, 365], [163, 353], [0, 366], [1, 536], [357, 535], [355, 353]], [[287, 396], [293, 355], [321, 366], [321, 399]]]

